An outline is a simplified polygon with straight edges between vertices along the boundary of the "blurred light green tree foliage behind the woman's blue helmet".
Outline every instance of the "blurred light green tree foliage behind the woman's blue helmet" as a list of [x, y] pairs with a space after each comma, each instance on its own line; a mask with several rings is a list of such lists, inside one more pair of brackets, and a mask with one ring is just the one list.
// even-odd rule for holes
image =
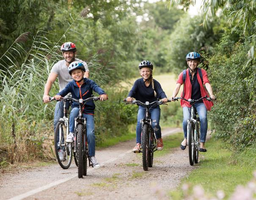
[[188, 52], [200, 52], [205, 57], [212, 52], [213, 46], [225, 30], [225, 23], [211, 20], [208, 27], [204, 28], [203, 20], [202, 16], [186, 16], [176, 23], [175, 30], [170, 35], [171, 45], [165, 55], [170, 63], [169, 71], [184, 69], [187, 66], [185, 58]]

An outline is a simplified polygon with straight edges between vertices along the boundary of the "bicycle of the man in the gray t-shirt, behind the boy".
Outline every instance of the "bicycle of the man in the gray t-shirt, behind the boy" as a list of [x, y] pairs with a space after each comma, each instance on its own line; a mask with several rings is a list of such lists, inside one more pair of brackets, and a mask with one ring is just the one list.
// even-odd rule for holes
[[[55, 100], [54, 97], [50, 98], [50, 101]], [[71, 103], [72, 98], [70, 95], [63, 97], [60, 100], [56, 101], [63, 101], [63, 118], [60, 118], [54, 132], [54, 148], [55, 148], [55, 155], [56, 159], [59, 163], [59, 165], [63, 169], [68, 169], [70, 167], [70, 164], [72, 162], [72, 155], [74, 155], [74, 147], [72, 143], [66, 143], [66, 137], [69, 134], [69, 118], [68, 118], [68, 110], [66, 109], [66, 103], [69, 102]], [[57, 141], [57, 138], [59, 139]], [[63, 151], [63, 158], [60, 158], [58, 151], [62, 150]], [[77, 163], [77, 158], [74, 155], [74, 162], [76, 166], [78, 165]]]

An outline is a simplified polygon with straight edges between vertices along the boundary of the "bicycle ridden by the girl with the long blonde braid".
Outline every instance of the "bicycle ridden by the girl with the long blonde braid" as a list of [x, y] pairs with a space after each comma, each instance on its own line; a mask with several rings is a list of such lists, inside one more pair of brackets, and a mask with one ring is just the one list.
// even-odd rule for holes
[[[124, 101], [127, 101], [127, 99], [124, 99]], [[168, 100], [168, 102], [171, 102], [171, 100]], [[154, 134], [154, 130], [151, 127], [152, 119], [149, 109], [156, 104], [162, 105], [163, 103], [162, 101], [153, 101], [151, 103], [149, 103], [149, 101], [146, 101], [145, 103], [143, 103], [141, 101], [133, 100], [127, 104], [137, 104], [138, 106], [143, 106], [146, 108], [146, 113], [141, 126], [141, 149], [139, 152], [135, 153], [142, 152], [143, 170], [148, 171], [148, 168], [153, 166], [154, 152], [157, 151], [156, 137]]]

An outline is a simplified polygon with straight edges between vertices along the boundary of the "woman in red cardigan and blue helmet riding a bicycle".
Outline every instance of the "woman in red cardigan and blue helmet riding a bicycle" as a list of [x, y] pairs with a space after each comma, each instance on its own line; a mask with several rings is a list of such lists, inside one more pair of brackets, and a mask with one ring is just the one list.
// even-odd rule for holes
[[[204, 69], [198, 68], [201, 61], [201, 56], [197, 52], [190, 52], [186, 56], [186, 61], [188, 68], [185, 73], [181, 72], [179, 74], [179, 78], [177, 80], [176, 88], [173, 90], [172, 98], [175, 98], [179, 93], [179, 88], [182, 84], [184, 84], [184, 89], [182, 92], [182, 97], [185, 99], [200, 99], [203, 96], [209, 96], [215, 100], [215, 96], [212, 92], [212, 86], [210, 85], [207, 73]], [[183, 76], [184, 74], [184, 76]], [[183, 79], [184, 77], [184, 79]], [[205, 88], [203, 86], [205, 85]], [[208, 94], [209, 93], [209, 94]], [[183, 131], [184, 131], [184, 140], [181, 143], [180, 148], [185, 150], [187, 146], [187, 120], [190, 119], [191, 105], [187, 101], [180, 101], [181, 106], [183, 107]], [[204, 146], [206, 140], [206, 132], [207, 132], [207, 110], [211, 110], [213, 106], [212, 101], [201, 100], [196, 102], [195, 108], [198, 112], [200, 118], [200, 148], [199, 151], [206, 152], [206, 148]]]

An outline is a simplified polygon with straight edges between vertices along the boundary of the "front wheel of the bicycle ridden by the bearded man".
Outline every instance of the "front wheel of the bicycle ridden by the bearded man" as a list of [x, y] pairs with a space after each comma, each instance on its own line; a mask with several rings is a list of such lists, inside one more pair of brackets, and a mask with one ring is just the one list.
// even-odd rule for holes
[[[55, 155], [59, 165], [64, 169], [68, 169], [72, 162], [72, 143], [66, 143], [66, 130], [67, 127], [63, 121], [58, 121], [55, 132], [54, 132], [54, 148], [55, 148]], [[61, 132], [61, 138], [59, 138], [60, 145], [63, 146], [63, 160], [60, 159], [58, 154], [58, 144], [57, 144], [57, 135]]]

